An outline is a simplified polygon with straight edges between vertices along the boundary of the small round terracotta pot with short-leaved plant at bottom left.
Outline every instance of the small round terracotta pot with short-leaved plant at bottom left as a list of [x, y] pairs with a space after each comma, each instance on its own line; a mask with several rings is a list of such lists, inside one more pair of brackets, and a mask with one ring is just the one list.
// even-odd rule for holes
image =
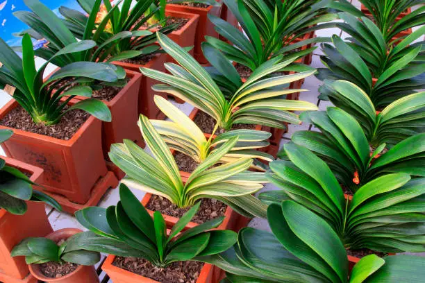
[[84, 250], [73, 244], [82, 231], [65, 228], [45, 238], [26, 238], [12, 250], [12, 256], [24, 256], [31, 274], [42, 282], [99, 282], [94, 264], [99, 252]]

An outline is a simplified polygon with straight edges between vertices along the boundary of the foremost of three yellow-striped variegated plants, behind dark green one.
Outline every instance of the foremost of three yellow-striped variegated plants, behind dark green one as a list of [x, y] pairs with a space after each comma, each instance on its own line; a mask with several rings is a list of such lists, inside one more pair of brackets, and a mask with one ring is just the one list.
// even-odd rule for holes
[[122, 183], [163, 196], [179, 208], [191, 207], [201, 198], [215, 198], [245, 216], [265, 216], [265, 205], [251, 195], [263, 188], [265, 175], [247, 171], [252, 164], [251, 158], [211, 168], [235, 147], [238, 137], [228, 139], [206, 157], [183, 183], [172, 153], [149, 119], [140, 115], [138, 125], [153, 156], [133, 141], [113, 144], [109, 157], [126, 173]]

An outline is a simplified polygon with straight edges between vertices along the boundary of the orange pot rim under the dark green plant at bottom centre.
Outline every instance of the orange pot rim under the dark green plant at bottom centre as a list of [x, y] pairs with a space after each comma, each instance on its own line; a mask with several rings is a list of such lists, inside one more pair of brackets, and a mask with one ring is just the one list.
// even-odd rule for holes
[[[148, 277], [131, 273], [125, 269], [119, 268], [113, 265], [115, 255], [108, 255], [105, 262], [102, 265], [102, 270], [108, 274], [114, 283], [161, 283], [156, 280], [152, 280]], [[213, 266], [210, 264], [204, 264], [199, 274], [197, 283], [213, 283]], [[166, 282], [162, 282], [166, 283]]]

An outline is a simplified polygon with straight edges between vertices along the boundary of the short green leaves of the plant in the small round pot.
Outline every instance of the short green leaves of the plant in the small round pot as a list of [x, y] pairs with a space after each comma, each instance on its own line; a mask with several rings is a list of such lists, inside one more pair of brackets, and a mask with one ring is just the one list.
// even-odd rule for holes
[[85, 266], [97, 264], [100, 260], [99, 252], [84, 250], [71, 243], [79, 234], [74, 234], [63, 243], [56, 243], [47, 238], [26, 238], [13, 248], [12, 257], [24, 256], [26, 264], [44, 264], [49, 261], [63, 263], [72, 262]]

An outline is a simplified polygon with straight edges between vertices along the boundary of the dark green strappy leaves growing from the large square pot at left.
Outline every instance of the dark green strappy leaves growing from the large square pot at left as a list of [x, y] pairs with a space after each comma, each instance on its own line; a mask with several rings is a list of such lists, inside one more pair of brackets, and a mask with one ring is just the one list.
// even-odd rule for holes
[[[77, 42], [53, 55], [72, 54], [86, 48]], [[81, 109], [102, 121], [110, 121], [108, 106], [97, 99], [86, 99], [65, 109], [74, 96], [92, 96], [88, 83], [97, 80], [115, 83], [125, 77], [124, 69], [106, 63], [74, 62], [56, 71], [43, 81], [44, 70], [50, 61], [35, 69], [33, 43], [29, 35], [22, 39], [22, 58], [0, 39], [0, 82], [16, 87], [13, 98], [31, 115], [35, 123], [52, 125], [58, 123], [66, 112]], [[51, 58], [51, 59], [52, 59]], [[66, 98], [66, 99], [65, 99]]]

